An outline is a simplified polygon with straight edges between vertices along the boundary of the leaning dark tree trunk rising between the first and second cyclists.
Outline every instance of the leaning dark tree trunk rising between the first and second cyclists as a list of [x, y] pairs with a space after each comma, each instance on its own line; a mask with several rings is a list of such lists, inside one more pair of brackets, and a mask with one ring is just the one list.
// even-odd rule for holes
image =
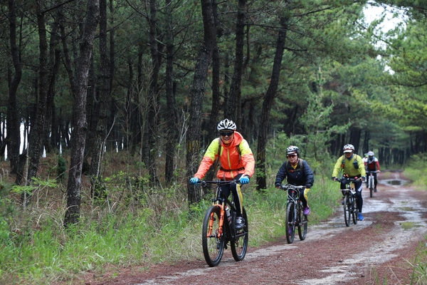
[[265, 180], [265, 146], [267, 145], [268, 120], [270, 110], [278, 90], [280, 68], [282, 67], [283, 51], [285, 50], [286, 33], [288, 28], [288, 18], [280, 16], [280, 30], [278, 43], [273, 61], [273, 71], [271, 73], [270, 86], [264, 96], [263, 109], [261, 110], [260, 128], [258, 133], [258, 149], [256, 156], [256, 182], [257, 190], [267, 189]]

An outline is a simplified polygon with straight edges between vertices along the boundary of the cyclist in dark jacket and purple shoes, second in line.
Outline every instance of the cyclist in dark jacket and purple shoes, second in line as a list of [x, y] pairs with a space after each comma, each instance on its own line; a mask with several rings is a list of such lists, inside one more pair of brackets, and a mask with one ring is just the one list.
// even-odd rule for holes
[[308, 163], [300, 158], [300, 149], [298, 147], [290, 145], [286, 149], [286, 156], [288, 160], [283, 162], [283, 165], [280, 167], [274, 185], [276, 188], [280, 187], [282, 181], [288, 177], [288, 184], [305, 186], [305, 190], [301, 190], [300, 192], [300, 199], [304, 207], [304, 214], [310, 214], [307, 193], [315, 182], [315, 175], [313, 175]]

